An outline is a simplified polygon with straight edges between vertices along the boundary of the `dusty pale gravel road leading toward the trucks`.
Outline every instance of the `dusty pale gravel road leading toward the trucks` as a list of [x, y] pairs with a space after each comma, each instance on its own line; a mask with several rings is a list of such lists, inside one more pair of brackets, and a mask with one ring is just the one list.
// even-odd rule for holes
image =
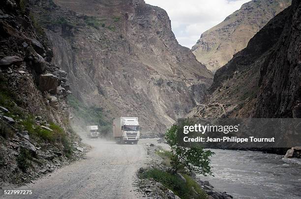
[[85, 140], [94, 148], [87, 159], [65, 166], [16, 190], [32, 190], [16, 199], [135, 199], [136, 171], [146, 162], [144, 142], [118, 145], [115, 142]]

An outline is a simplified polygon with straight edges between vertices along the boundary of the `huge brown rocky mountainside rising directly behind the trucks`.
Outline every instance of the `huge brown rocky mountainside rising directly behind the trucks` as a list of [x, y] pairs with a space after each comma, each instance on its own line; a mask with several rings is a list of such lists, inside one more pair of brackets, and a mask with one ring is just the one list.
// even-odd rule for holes
[[164, 130], [202, 103], [212, 74], [181, 47], [167, 13], [143, 0], [37, 0], [33, 11], [76, 98]]

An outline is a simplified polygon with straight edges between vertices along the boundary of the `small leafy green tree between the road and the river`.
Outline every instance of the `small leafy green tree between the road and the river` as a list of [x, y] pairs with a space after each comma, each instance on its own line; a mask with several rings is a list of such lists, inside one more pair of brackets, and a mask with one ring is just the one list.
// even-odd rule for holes
[[209, 157], [214, 154], [202, 147], [186, 148], [179, 146], [177, 138], [178, 126], [172, 125], [165, 134], [165, 139], [171, 147], [171, 172], [189, 171], [197, 174], [212, 175]]

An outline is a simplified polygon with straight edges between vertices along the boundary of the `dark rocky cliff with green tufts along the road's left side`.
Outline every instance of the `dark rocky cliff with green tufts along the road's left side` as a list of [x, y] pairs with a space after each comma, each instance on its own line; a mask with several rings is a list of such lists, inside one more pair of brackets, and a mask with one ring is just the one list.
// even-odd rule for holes
[[[80, 156], [69, 126], [66, 72], [24, 1], [0, 4], [0, 189]], [[74, 151], [73, 151], [74, 150]], [[81, 153], [82, 154], [82, 153]]]

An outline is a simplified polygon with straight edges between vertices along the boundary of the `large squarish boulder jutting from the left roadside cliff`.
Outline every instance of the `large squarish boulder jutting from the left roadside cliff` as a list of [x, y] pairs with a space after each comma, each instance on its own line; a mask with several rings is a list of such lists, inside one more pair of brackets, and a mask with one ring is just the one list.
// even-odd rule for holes
[[52, 94], [56, 94], [58, 87], [58, 77], [51, 73], [42, 74], [38, 79], [39, 88], [41, 91], [49, 91]]

